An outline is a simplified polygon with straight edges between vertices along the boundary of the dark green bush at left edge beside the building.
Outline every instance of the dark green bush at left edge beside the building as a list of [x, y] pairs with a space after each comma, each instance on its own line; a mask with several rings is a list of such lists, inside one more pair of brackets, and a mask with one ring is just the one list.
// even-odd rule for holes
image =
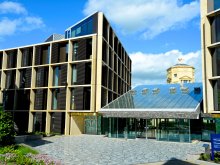
[[14, 144], [14, 122], [10, 113], [0, 108], [0, 146]]

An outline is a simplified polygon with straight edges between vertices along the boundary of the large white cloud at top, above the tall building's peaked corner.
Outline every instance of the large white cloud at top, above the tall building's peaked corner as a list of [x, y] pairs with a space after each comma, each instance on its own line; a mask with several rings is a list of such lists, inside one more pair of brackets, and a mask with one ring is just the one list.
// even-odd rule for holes
[[141, 32], [145, 39], [181, 28], [199, 16], [198, 0], [180, 4], [179, 0], [88, 0], [84, 14], [103, 11], [123, 33]]

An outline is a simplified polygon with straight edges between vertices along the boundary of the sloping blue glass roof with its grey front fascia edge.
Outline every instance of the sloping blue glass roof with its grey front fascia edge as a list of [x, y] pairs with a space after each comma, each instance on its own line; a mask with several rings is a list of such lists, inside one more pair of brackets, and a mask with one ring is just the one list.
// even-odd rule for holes
[[140, 85], [104, 106], [105, 117], [197, 119], [202, 83]]

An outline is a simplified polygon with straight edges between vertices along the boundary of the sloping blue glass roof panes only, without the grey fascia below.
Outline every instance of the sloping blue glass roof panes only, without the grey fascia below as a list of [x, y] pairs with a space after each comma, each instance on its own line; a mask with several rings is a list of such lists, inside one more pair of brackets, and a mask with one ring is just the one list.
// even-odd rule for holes
[[202, 101], [202, 83], [140, 85], [102, 109], [195, 109]]

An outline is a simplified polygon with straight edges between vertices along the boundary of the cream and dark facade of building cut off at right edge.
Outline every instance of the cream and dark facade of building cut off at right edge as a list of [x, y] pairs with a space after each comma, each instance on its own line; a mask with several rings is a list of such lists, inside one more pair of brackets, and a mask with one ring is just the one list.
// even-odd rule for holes
[[220, 1], [201, 1], [204, 112], [220, 113]]

